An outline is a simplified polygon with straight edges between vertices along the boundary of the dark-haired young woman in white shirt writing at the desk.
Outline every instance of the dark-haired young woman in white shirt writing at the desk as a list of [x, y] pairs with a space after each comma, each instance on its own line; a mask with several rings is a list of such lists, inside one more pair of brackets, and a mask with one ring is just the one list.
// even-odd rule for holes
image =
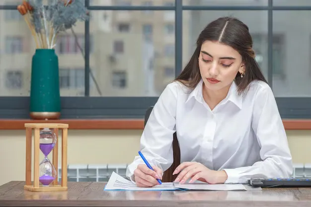
[[175, 181], [246, 183], [290, 177], [292, 156], [271, 88], [252, 49], [248, 27], [231, 17], [207, 25], [181, 74], [156, 102], [127, 168], [139, 187], [158, 185], [173, 162], [176, 132], [181, 164]]

